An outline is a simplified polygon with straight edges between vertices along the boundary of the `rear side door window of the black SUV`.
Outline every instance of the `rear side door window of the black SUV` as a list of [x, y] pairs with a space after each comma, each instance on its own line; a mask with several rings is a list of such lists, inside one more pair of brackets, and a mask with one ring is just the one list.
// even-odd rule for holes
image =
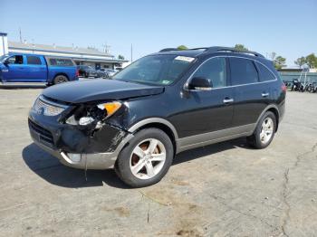
[[233, 85], [244, 85], [259, 81], [259, 75], [252, 60], [230, 58], [229, 61]]

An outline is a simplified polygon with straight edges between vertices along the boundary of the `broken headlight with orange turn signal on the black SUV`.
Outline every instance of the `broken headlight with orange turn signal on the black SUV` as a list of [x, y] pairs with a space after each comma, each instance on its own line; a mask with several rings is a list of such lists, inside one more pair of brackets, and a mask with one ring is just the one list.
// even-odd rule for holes
[[99, 123], [113, 115], [120, 107], [121, 103], [118, 101], [81, 106], [75, 109], [70, 118], [66, 119], [66, 123], [85, 126], [95, 122], [98, 127]]

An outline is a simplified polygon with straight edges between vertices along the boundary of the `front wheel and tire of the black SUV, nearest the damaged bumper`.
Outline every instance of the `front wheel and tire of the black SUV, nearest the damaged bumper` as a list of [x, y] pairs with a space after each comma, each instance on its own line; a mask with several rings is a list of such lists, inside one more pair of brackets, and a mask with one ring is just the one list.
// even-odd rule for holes
[[174, 148], [168, 135], [158, 128], [146, 128], [121, 150], [115, 171], [132, 187], [154, 185], [168, 173], [173, 157]]

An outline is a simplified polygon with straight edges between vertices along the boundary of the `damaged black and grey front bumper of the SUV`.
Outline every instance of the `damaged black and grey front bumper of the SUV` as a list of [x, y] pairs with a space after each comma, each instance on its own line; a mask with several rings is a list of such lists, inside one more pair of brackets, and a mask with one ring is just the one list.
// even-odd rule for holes
[[133, 137], [124, 129], [104, 124], [91, 133], [91, 128], [61, 124], [30, 110], [28, 119], [34, 143], [63, 165], [82, 169], [106, 169], [114, 165], [120, 150]]

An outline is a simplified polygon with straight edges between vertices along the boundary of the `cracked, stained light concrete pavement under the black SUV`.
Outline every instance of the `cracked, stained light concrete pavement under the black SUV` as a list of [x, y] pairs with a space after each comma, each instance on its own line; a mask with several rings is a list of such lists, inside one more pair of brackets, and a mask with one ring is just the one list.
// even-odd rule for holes
[[113, 170], [62, 166], [36, 147], [27, 112], [42, 89], [0, 89], [0, 236], [315, 236], [317, 94], [288, 92], [270, 147], [245, 139], [179, 154], [130, 189]]

